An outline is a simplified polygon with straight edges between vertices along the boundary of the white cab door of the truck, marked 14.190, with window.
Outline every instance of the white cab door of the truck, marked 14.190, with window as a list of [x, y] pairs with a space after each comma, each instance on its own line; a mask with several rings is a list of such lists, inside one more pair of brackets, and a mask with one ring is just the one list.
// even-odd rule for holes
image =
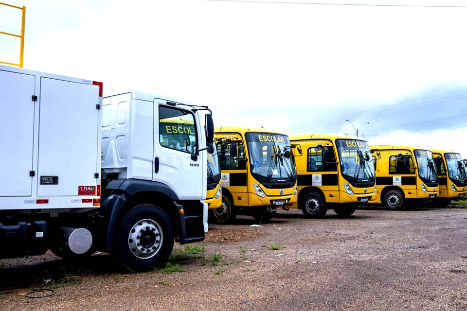
[[[181, 200], [199, 200], [205, 196], [203, 157], [196, 155], [201, 146], [195, 114], [180, 106], [154, 101], [153, 180], [173, 189]], [[204, 159], [206, 161], [206, 159]]]

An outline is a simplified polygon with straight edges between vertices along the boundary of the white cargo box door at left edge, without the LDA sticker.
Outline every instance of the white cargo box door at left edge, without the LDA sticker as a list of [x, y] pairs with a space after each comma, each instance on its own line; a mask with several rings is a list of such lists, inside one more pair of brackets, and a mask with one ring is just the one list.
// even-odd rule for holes
[[31, 196], [35, 76], [0, 70], [0, 196]]

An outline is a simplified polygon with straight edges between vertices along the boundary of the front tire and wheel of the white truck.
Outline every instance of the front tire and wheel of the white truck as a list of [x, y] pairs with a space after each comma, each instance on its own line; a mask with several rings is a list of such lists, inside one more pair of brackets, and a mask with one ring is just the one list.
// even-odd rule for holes
[[167, 263], [174, 238], [174, 226], [167, 213], [155, 205], [141, 204], [121, 219], [113, 253], [127, 271], [147, 271]]

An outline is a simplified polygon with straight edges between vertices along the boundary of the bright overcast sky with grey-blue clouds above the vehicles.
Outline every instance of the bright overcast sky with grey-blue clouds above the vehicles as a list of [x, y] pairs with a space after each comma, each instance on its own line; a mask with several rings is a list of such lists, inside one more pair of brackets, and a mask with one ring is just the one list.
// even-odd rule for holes
[[[467, 8], [4, 1], [26, 6], [26, 69], [102, 81], [104, 95], [141, 89], [207, 104], [216, 126], [355, 135], [348, 119], [370, 144], [467, 157]], [[20, 11], [0, 6], [0, 31], [19, 25]], [[17, 39], [1, 35], [0, 46], [0, 60], [17, 62]]]

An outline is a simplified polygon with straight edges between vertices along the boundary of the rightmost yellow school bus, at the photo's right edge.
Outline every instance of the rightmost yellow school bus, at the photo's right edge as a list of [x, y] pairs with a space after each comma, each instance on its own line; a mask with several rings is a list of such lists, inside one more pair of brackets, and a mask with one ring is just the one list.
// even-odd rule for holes
[[439, 180], [439, 194], [433, 203], [447, 207], [452, 200], [465, 199], [467, 192], [466, 167], [460, 154], [431, 149]]

